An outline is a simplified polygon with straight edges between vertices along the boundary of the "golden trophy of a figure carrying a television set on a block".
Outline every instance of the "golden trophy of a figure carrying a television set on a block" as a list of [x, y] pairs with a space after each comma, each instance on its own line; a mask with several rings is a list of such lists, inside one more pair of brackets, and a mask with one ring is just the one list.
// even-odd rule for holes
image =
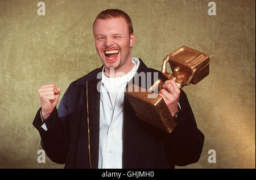
[[[167, 72], [167, 62], [173, 74]], [[195, 85], [208, 76], [209, 62], [209, 55], [183, 46], [164, 58], [162, 73], [166, 78], [174, 79], [179, 88], [190, 83]], [[156, 98], [148, 98], [148, 95], [153, 94], [152, 91], [162, 89], [162, 84], [162, 80], [158, 79], [146, 90], [133, 83], [127, 87], [125, 95], [139, 119], [171, 133], [177, 124], [163, 98], [159, 95], [155, 95]]]

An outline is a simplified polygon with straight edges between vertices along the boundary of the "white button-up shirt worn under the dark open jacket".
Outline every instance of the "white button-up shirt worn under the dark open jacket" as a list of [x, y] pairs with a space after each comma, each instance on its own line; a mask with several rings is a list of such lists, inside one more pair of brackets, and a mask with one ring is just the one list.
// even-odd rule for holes
[[118, 78], [107, 77], [102, 69], [98, 168], [122, 168], [124, 92], [137, 72], [139, 59], [132, 58], [132, 62], [134, 68]]

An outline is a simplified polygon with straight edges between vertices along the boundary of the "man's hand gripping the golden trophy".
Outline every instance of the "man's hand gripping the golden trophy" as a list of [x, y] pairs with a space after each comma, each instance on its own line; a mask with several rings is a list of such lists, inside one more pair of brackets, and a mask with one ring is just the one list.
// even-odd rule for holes
[[174, 114], [178, 111], [177, 103], [180, 97], [180, 89], [176, 85], [176, 82], [172, 79], [165, 81], [158, 95], [163, 97], [169, 111], [171, 112], [172, 116], [174, 116]]

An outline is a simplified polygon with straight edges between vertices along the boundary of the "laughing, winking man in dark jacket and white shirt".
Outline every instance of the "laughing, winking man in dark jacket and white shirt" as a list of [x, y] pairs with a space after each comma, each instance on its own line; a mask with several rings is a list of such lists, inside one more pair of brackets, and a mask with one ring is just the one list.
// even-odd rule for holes
[[197, 162], [204, 135], [174, 81], [165, 81], [159, 91], [172, 115], [183, 112], [170, 134], [142, 122], [125, 97], [136, 74], [158, 72], [131, 57], [135, 37], [129, 16], [102, 11], [93, 34], [104, 66], [72, 82], [58, 110], [60, 88], [50, 84], [38, 90], [41, 108], [33, 125], [47, 156], [65, 168], [175, 168]]

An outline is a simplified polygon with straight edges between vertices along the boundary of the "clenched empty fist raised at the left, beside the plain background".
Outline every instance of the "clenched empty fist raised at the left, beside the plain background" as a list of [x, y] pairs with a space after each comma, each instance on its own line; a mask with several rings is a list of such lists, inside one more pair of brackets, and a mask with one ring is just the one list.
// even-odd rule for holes
[[55, 84], [44, 85], [38, 90], [41, 102], [41, 114], [42, 118], [45, 120], [52, 113], [53, 109], [56, 107], [59, 97], [60, 88], [55, 88]]

